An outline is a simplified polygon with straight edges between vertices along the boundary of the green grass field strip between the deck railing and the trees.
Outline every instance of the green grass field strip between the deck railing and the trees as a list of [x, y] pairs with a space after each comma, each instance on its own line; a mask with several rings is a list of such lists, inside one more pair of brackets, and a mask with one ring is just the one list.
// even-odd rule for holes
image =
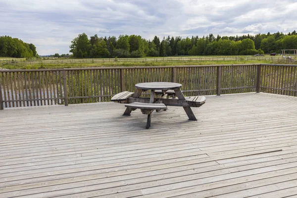
[[[9, 58], [0, 57], [1, 60]], [[133, 67], [133, 66], [170, 66], [170, 65], [209, 65], [209, 64], [245, 64], [245, 63], [290, 63], [281, 56], [169, 56], [145, 58], [86, 58], [63, 59], [43, 58], [33, 61], [14, 59], [13, 62], [0, 64], [5, 69], [50, 69], [81, 67]], [[292, 64], [292, 62], [291, 62]]]

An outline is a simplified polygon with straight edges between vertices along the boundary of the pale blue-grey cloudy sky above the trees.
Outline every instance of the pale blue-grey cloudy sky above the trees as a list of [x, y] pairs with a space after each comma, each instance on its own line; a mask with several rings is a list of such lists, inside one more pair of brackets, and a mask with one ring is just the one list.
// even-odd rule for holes
[[297, 0], [0, 0], [0, 36], [40, 55], [69, 53], [78, 34], [192, 37], [297, 30]]

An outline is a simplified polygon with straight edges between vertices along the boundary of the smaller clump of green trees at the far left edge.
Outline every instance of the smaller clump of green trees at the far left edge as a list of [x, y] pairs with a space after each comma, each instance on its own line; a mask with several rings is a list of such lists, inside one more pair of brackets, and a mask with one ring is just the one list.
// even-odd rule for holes
[[0, 57], [32, 58], [38, 57], [36, 47], [20, 39], [0, 36]]

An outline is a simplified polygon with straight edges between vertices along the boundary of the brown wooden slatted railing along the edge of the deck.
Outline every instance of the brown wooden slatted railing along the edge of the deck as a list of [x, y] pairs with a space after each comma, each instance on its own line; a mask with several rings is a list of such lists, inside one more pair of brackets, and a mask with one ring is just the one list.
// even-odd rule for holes
[[186, 96], [266, 92], [297, 96], [297, 65], [240, 64], [0, 70], [0, 109], [110, 101], [140, 82], [181, 83]]

